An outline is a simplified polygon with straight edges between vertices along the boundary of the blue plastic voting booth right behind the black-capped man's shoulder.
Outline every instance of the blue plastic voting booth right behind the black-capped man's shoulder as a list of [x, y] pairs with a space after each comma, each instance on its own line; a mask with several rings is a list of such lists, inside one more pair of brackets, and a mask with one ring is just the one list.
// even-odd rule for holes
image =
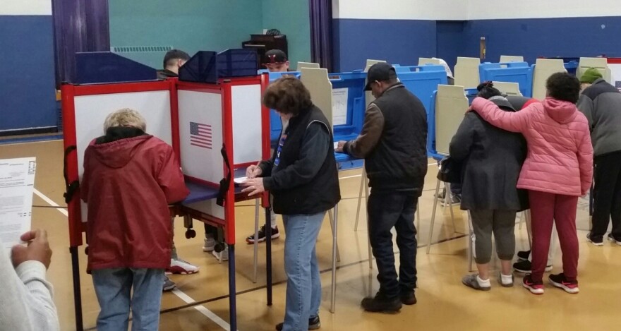
[[425, 66], [394, 65], [397, 77], [405, 87], [423, 102], [427, 116], [432, 107], [433, 91], [439, 84], [447, 84], [447, 73], [444, 66], [427, 64]]

